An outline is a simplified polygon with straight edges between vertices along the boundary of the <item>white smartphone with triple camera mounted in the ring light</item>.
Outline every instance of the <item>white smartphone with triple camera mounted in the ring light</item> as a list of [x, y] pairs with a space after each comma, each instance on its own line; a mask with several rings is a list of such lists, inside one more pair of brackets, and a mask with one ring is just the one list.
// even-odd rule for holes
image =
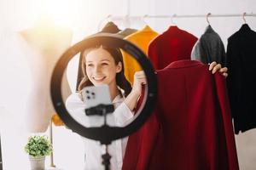
[[85, 110], [99, 105], [112, 105], [108, 85], [85, 87], [82, 95], [86, 104]]

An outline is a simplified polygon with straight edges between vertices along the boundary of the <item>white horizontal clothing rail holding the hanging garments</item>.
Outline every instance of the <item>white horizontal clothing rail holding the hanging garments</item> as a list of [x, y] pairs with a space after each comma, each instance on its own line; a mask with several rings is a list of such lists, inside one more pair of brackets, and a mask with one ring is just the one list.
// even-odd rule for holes
[[124, 20], [124, 21], [128, 21], [128, 20], [145, 20], [145, 19], [173, 19], [173, 18], [207, 18], [207, 22], [209, 17], [242, 17], [242, 19], [245, 21], [245, 17], [246, 16], [250, 16], [250, 17], [256, 17], [256, 14], [250, 13], [243, 13], [243, 14], [164, 14], [164, 15], [123, 15], [123, 16], [118, 16], [118, 15], [111, 15], [109, 14], [106, 18], [104, 18], [103, 20], [100, 21], [99, 26], [98, 26], [98, 30], [100, 30], [101, 26], [102, 26], [102, 22], [105, 20]]

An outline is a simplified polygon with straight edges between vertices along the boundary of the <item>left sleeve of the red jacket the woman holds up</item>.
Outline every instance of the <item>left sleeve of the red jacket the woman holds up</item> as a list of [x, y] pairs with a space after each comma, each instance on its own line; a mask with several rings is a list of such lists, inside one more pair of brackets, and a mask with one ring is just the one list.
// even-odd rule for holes
[[160, 122], [154, 111], [148, 121], [137, 132], [129, 136], [125, 150], [122, 170], [150, 169], [150, 162], [154, 161], [154, 151], [160, 135]]

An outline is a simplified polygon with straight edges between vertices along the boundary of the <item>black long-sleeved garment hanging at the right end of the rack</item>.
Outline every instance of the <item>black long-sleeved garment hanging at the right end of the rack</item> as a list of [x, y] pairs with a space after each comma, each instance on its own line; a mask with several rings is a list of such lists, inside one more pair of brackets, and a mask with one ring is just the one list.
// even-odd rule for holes
[[256, 32], [247, 24], [228, 38], [227, 85], [235, 133], [256, 127]]

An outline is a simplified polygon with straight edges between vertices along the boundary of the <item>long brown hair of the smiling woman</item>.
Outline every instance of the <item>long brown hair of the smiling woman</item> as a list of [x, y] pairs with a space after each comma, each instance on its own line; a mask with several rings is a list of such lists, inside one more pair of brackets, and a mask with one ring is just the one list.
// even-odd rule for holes
[[[84, 87], [87, 87], [87, 86], [93, 86], [92, 82], [90, 82], [87, 74], [86, 74], [86, 65], [85, 65], [85, 56], [86, 54], [89, 54], [89, 52], [93, 49], [97, 49], [97, 48], [103, 48], [105, 49], [106, 51], [108, 51], [109, 54], [111, 54], [111, 56], [113, 57], [114, 59], [114, 63], [116, 65], [119, 64], [119, 62], [121, 63], [122, 65], [122, 70], [117, 73], [116, 77], [115, 77], [115, 80], [116, 80], [116, 83], [118, 85], [119, 88], [123, 89], [124, 90], [124, 95], [125, 97], [131, 93], [131, 83], [126, 79], [125, 77], [125, 68], [124, 68], [124, 61], [123, 61], [123, 55], [121, 54], [119, 48], [109, 48], [109, 47], [105, 47], [105, 46], [98, 46], [98, 47], [94, 47], [94, 48], [88, 48], [88, 49], [85, 49], [84, 52], [83, 52], [83, 58], [82, 58], [82, 62], [81, 62], [81, 67], [82, 67], [82, 72], [83, 72], [83, 78], [81, 80], [81, 82], [79, 82], [79, 92], [81, 92], [81, 90], [84, 88]], [[120, 93], [120, 91], [119, 91]], [[120, 93], [122, 94], [122, 93]]]

